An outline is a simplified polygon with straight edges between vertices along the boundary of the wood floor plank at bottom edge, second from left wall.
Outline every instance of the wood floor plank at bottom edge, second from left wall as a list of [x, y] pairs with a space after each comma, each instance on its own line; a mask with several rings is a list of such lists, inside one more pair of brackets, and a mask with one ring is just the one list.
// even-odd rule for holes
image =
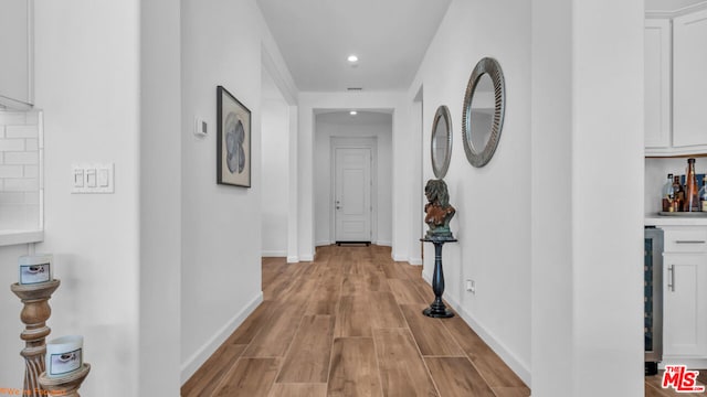
[[240, 358], [212, 397], [267, 396], [277, 371], [278, 358]]

